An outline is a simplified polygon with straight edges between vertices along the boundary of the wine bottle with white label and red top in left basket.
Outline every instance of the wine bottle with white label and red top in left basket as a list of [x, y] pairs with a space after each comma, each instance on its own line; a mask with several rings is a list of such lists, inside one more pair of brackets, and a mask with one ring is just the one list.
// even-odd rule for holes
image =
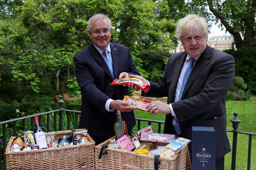
[[39, 146], [39, 149], [46, 149], [47, 148], [47, 141], [45, 137], [44, 130], [39, 125], [38, 116], [34, 117], [35, 121], [35, 142]]

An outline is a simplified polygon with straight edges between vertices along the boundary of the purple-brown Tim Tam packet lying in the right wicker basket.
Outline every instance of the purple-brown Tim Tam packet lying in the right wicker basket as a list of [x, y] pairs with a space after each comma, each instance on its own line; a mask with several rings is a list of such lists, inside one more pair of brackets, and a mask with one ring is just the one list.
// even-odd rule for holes
[[140, 133], [140, 142], [151, 142], [153, 144], [167, 145], [176, 139], [175, 135], [154, 132]]

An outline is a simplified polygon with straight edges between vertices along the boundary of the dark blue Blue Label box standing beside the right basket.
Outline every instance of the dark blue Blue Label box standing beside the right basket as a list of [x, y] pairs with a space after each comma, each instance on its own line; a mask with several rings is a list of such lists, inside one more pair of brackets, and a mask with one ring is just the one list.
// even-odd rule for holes
[[215, 170], [214, 127], [192, 126], [192, 170]]

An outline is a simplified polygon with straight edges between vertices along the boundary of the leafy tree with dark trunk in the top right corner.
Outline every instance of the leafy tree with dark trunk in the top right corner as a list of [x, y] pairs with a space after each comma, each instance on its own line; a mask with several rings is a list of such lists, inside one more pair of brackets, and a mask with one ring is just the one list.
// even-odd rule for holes
[[233, 35], [236, 48], [256, 46], [255, 0], [168, 0], [168, 17], [178, 20], [187, 13], [203, 14], [209, 25], [220, 21]]

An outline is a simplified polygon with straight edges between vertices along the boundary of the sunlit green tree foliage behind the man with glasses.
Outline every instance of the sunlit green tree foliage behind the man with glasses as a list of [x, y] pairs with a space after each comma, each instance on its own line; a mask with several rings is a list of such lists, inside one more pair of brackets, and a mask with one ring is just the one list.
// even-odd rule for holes
[[39, 87], [49, 87], [47, 77], [56, 91], [75, 87], [73, 55], [91, 43], [87, 20], [96, 13], [110, 17], [112, 41], [131, 49], [144, 77], [146, 71], [163, 70], [173, 47], [175, 24], [159, 17], [168, 8], [150, 0], [5, 0], [1, 5], [0, 79], [15, 84], [12, 88], [26, 87], [24, 93], [43, 93]]

